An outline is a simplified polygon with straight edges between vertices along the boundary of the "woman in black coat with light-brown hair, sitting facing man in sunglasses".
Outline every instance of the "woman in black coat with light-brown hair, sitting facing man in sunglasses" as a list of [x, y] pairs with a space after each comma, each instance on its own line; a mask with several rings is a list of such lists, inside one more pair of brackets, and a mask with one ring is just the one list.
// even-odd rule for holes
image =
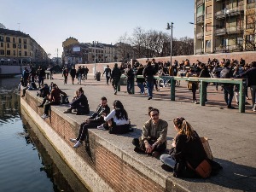
[[[212, 166], [211, 175], [217, 174], [222, 167], [207, 158], [207, 153], [202, 146], [201, 138], [192, 126], [183, 118], [173, 119], [177, 136], [174, 138], [169, 154], [162, 154], [160, 160], [173, 169], [174, 177], [198, 177], [195, 168], [203, 160]], [[189, 166], [188, 166], [189, 164]]]

